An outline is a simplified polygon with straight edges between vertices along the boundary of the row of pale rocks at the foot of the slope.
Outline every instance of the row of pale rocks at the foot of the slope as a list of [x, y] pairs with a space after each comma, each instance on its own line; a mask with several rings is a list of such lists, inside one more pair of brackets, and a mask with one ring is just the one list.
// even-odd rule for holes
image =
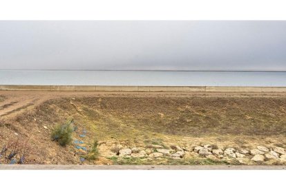
[[[243, 164], [251, 164], [251, 162], [263, 162], [267, 160], [280, 160], [286, 162], [286, 151], [282, 147], [267, 148], [264, 146], [257, 146], [256, 149], [235, 149], [227, 147], [225, 149], [218, 148], [217, 145], [200, 145], [180, 147], [172, 145], [170, 148], [162, 145], [147, 145], [146, 147], [122, 147], [119, 149], [117, 155], [120, 157], [132, 158], [160, 158], [166, 156], [174, 159], [184, 158], [188, 156], [200, 156], [210, 158], [212, 160], [218, 159], [236, 159]], [[187, 157], [187, 156], [186, 156]]]

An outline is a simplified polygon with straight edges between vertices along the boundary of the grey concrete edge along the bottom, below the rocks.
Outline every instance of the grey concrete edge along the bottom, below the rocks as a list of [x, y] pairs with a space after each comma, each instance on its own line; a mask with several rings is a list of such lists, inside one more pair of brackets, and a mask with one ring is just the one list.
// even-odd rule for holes
[[278, 165], [0, 165], [0, 170], [284, 170]]

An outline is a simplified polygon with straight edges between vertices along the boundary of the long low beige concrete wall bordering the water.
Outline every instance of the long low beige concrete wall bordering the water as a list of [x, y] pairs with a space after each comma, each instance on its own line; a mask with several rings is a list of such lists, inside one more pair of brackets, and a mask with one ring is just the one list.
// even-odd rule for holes
[[111, 85], [0, 85], [0, 90], [86, 92], [286, 92], [286, 87], [222, 86], [111, 86]]

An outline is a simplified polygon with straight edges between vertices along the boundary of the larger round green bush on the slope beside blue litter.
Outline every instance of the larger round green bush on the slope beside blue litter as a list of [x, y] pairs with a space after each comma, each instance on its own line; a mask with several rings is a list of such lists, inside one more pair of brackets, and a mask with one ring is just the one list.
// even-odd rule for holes
[[73, 120], [68, 120], [66, 123], [57, 125], [53, 129], [52, 138], [59, 142], [59, 145], [66, 146], [73, 140], [72, 135], [74, 129], [71, 127], [72, 123]]

